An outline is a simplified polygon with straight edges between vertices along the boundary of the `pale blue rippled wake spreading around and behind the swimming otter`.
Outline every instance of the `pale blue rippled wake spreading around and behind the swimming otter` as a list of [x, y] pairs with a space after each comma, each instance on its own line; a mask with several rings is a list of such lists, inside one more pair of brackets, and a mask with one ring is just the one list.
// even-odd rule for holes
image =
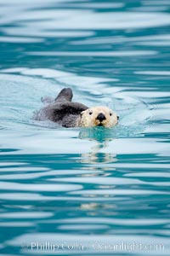
[[[129, 96], [129, 91], [126, 95], [126, 89], [116, 87], [114, 79], [80, 77], [73, 73], [51, 69], [28, 68], [3, 70], [0, 78], [3, 90], [3, 95], [0, 97], [1, 129], [26, 131], [61, 129], [54, 122], [35, 121], [32, 116], [42, 107], [40, 102], [42, 96], [54, 97], [63, 86], [71, 86], [74, 90], [74, 101], [81, 99], [81, 102], [90, 107], [105, 105], [116, 111], [120, 116], [119, 124], [103, 131], [104, 137], [105, 135], [110, 138], [139, 136], [150, 120], [151, 108], [147, 102]], [[11, 93], [10, 98], [8, 91]], [[80, 137], [97, 139], [99, 130], [86, 129], [80, 132]]]

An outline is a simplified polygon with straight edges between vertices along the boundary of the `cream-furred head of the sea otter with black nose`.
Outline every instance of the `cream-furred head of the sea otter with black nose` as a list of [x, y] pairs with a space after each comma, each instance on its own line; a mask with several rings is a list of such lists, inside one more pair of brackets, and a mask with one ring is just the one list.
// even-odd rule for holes
[[110, 108], [99, 106], [88, 108], [81, 113], [81, 126], [104, 126], [111, 128], [116, 125], [119, 117]]

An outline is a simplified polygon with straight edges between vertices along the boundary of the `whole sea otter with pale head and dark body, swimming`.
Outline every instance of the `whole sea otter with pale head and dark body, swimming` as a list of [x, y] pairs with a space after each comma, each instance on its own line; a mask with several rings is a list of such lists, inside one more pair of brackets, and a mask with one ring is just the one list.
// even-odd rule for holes
[[49, 119], [67, 128], [94, 126], [111, 128], [117, 124], [119, 117], [110, 108], [104, 106], [88, 108], [82, 103], [71, 102], [72, 96], [71, 88], [64, 88], [54, 101], [46, 98], [45, 102], [48, 102], [48, 105], [38, 111], [34, 119]]

